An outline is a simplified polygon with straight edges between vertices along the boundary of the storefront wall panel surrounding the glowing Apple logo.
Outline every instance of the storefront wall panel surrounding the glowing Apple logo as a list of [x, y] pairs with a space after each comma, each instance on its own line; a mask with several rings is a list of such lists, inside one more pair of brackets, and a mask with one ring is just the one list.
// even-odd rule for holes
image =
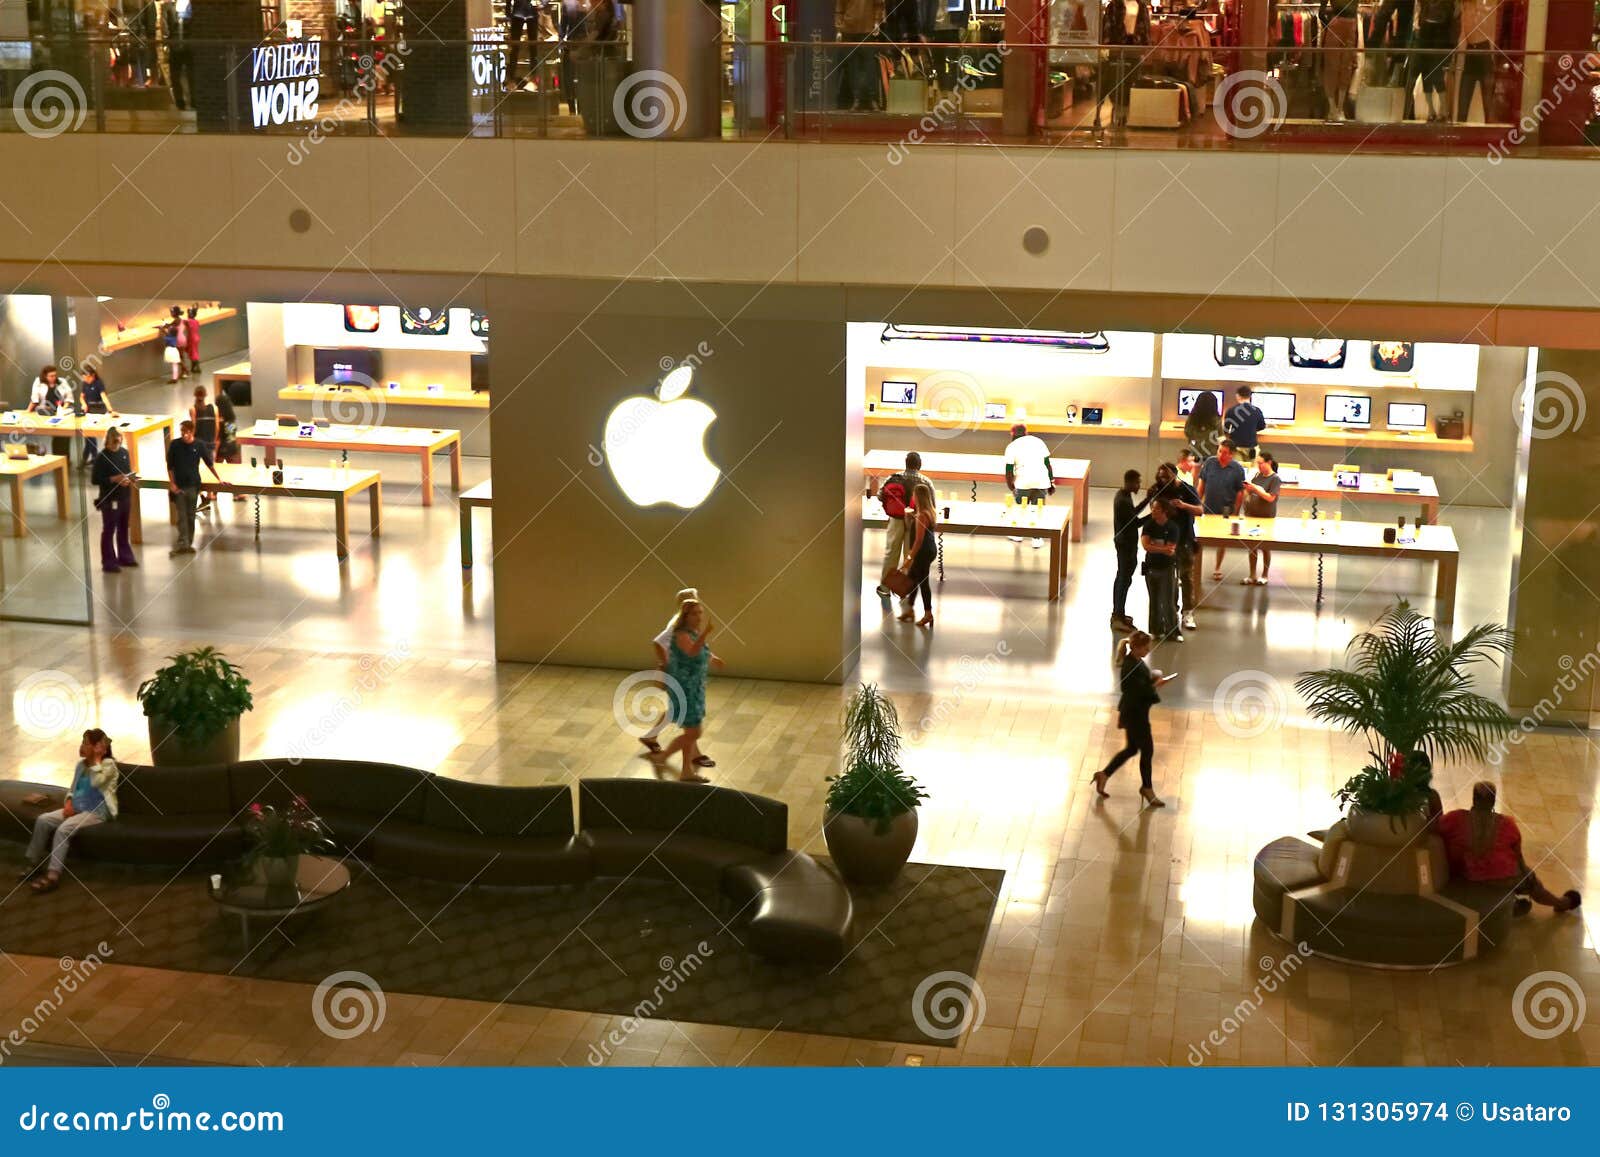
[[[674, 592], [696, 586], [730, 672], [840, 682], [861, 573], [842, 299], [768, 293], [723, 328], [707, 310], [731, 318], [742, 294], [488, 278], [486, 298], [498, 656], [643, 667]], [[606, 418], [691, 357], [723, 480], [691, 512], [635, 507], [600, 451]]]

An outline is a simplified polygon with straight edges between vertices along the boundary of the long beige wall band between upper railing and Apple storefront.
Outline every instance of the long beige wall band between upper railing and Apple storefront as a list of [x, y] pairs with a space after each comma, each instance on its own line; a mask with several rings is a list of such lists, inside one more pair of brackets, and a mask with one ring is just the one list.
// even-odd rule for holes
[[5, 171], [59, 179], [6, 198], [0, 253], [1189, 294], [1162, 328], [1198, 328], [1216, 294], [1592, 309], [1600, 266], [1586, 160], [928, 146], [896, 165], [870, 144], [341, 138], [290, 163], [296, 142], [8, 133]]

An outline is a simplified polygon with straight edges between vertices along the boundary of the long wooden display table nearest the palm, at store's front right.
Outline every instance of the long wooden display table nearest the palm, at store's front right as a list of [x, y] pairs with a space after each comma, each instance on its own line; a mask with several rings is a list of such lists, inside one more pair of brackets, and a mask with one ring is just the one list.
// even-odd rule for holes
[[1434, 621], [1448, 626], [1456, 619], [1456, 573], [1461, 565], [1461, 547], [1450, 526], [1418, 526], [1416, 542], [1410, 546], [1384, 542], [1384, 531], [1394, 530], [1387, 522], [1347, 522], [1344, 518], [1238, 518], [1240, 534], [1232, 533], [1235, 520], [1221, 514], [1205, 514], [1195, 518], [1195, 536], [1200, 546], [1266, 547], [1290, 554], [1331, 554], [1352, 558], [1384, 558], [1394, 562], [1435, 563]]

